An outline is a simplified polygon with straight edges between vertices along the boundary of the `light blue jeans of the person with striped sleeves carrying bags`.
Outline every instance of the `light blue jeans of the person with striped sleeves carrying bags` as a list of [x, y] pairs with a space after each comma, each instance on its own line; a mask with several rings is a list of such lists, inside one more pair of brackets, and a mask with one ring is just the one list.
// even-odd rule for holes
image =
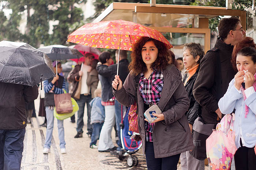
[[[47, 119], [47, 129], [46, 129], [46, 137], [45, 137], [45, 145], [44, 148], [51, 147], [52, 141], [52, 131], [53, 131], [53, 124], [54, 124], [54, 116], [53, 110], [50, 109], [49, 106], [45, 107], [46, 112], [46, 119]], [[60, 140], [60, 148], [65, 148], [65, 139], [64, 139], [64, 127], [63, 127], [63, 120], [58, 121], [58, 132], [59, 132], [59, 140]]]

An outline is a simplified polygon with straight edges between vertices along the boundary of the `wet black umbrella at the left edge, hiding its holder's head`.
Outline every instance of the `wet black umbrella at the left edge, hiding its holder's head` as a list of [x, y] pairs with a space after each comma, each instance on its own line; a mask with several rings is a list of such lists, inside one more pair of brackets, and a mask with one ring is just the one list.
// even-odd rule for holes
[[35, 86], [54, 76], [45, 53], [24, 42], [0, 42], [0, 82]]

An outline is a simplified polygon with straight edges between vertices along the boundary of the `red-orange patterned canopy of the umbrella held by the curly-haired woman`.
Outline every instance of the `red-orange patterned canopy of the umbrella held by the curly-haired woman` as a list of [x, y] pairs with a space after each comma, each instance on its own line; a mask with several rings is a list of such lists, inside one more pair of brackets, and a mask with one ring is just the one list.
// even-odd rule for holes
[[67, 41], [93, 48], [132, 51], [132, 45], [140, 37], [157, 39], [165, 43], [168, 49], [173, 47], [159, 31], [124, 20], [85, 24], [68, 35]]

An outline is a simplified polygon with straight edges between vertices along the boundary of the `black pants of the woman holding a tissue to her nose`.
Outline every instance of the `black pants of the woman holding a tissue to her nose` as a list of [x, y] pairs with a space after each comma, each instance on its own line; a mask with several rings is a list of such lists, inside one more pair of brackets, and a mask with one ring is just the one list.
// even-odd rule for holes
[[240, 145], [241, 147], [237, 149], [234, 155], [236, 170], [255, 170], [256, 155], [254, 152], [254, 148], [242, 146], [241, 139]]

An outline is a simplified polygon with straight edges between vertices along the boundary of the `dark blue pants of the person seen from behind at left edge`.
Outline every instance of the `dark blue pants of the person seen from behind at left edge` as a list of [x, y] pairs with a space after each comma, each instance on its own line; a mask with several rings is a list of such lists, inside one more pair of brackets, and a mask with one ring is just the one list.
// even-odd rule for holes
[[0, 130], [0, 170], [20, 170], [25, 132]]

